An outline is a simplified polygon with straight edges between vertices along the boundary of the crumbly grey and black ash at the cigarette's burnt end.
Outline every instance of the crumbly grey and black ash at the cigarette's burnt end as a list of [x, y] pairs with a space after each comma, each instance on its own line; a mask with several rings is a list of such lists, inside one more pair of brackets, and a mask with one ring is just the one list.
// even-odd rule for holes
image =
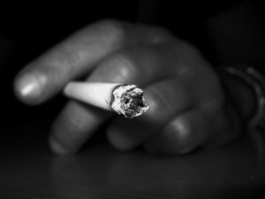
[[135, 85], [119, 85], [113, 89], [112, 96], [111, 109], [128, 119], [140, 116], [150, 108], [145, 103], [142, 89]]

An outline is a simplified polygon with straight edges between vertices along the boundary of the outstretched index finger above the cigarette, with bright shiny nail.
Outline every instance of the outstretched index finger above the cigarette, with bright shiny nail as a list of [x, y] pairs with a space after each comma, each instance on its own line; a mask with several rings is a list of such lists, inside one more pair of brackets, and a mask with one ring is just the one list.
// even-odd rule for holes
[[[86, 27], [37, 58], [19, 73], [14, 88], [25, 103], [42, 103], [72, 79], [84, 75], [103, 57], [137, 43], [156, 43], [168, 38], [163, 31], [105, 20]], [[145, 29], [147, 29], [145, 27]]]

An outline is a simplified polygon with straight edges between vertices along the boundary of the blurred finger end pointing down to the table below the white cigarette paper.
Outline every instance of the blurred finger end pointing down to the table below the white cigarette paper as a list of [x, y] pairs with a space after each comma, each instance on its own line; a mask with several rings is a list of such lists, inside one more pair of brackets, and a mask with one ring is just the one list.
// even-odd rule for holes
[[[87, 111], [87, 108], [89, 111]], [[78, 102], [70, 102], [57, 117], [49, 135], [49, 147], [59, 155], [72, 154], [87, 142], [110, 112]]]

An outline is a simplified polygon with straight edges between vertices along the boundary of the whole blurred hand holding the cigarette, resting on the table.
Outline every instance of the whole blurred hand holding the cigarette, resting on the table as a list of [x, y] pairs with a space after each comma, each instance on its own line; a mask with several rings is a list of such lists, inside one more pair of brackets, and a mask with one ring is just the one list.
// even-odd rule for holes
[[64, 85], [87, 81], [136, 84], [150, 110], [136, 119], [70, 101], [54, 123], [50, 148], [73, 153], [111, 118], [107, 137], [117, 149], [139, 145], [184, 154], [239, 137], [239, 118], [211, 65], [188, 42], [159, 27], [104, 20], [81, 29], [19, 73], [15, 90], [25, 103], [43, 103]]

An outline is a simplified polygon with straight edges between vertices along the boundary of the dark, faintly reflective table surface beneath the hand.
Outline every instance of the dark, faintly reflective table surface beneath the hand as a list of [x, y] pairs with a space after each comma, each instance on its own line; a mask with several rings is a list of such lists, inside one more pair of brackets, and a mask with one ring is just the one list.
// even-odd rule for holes
[[104, 142], [58, 157], [42, 124], [2, 135], [0, 198], [265, 198], [264, 139], [257, 132], [179, 157], [119, 152]]

